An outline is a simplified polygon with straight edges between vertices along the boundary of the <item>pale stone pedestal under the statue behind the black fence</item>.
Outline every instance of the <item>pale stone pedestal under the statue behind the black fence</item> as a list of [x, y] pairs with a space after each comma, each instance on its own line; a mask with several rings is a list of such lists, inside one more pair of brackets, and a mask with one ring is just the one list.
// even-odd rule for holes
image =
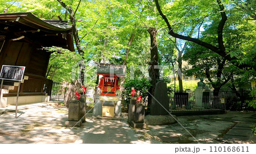
[[[203, 95], [203, 93], [205, 95]], [[209, 106], [209, 93], [210, 93], [209, 87], [196, 87], [195, 106], [207, 108], [207, 106]]]

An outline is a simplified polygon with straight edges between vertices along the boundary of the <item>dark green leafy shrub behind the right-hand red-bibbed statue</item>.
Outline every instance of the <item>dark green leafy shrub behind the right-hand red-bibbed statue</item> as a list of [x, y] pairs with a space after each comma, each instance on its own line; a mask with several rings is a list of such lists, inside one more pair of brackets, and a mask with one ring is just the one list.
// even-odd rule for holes
[[134, 87], [135, 91], [140, 91], [140, 95], [145, 100], [146, 96], [148, 96], [148, 91], [150, 89], [150, 81], [142, 78], [142, 79], [134, 79], [134, 80], [125, 80], [125, 90], [122, 95], [125, 96], [125, 103], [129, 104], [131, 99], [131, 87]]

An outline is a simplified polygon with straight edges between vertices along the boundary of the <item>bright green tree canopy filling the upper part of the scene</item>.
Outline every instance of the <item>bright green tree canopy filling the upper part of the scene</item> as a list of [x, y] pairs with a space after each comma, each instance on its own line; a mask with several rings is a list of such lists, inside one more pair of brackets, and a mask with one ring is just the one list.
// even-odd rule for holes
[[[63, 2], [74, 11], [79, 4], [79, 0], [63, 0]], [[188, 36], [195, 28], [191, 32], [193, 38], [198, 37], [199, 40], [218, 45], [217, 27], [221, 15], [216, 0], [167, 0], [159, 3], [175, 32]], [[222, 58], [191, 43], [184, 51], [184, 58], [192, 67], [185, 68], [185, 74], [206, 77], [205, 70], [209, 69], [212, 84], [221, 84], [233, 75], [230, 79], [232, 83], [228, 84], [241, 86], [249, 79], [255, 79], [256, 74], [256, 20], [253, 18], [255, 2], [236, 0], [222, 1], [222, 3], [228, 16], [223, 33], [226, 52], [231, 57], [238, 57], [238, 63], [250, 64], [254, 69], [238, 70], [226, 62], [221, 78], [216, 78], [217, 63]], [[7, 12], [32, 12], [41, 19], [58, 20], [57, 15], [59, 15], [71, 24], [69, 13], [56, 0], [6, 0], [0, 2], [0, 8], [2, 10], [8, 8]], [[127, 48], [130, 52], [126, 59], [126, 78], [130, 77], [130, 66], [135, 66], [135, 78], [141, 75], [144, 78], [145, 73], [139, 70], [139, 66], [147, 66], [150, 61], [150, 37], [147, 32], [147, 27], [150, 26], [159, 30], [157, 36], [159, 64], [170, 66], [164, 69], [164, 76], [173, 74], [172, 69], [176, 72], [177, 48], [183, 49], [185, 41], [167, 34], [168, 28], [165, 28], [166, 23], [155, 9], [154, 1], [81, 1], [75, 18], [81, 40], [80, 46], [84, 54], [71, 53], [60, 48], [47, 48], [52, 52], [47, 71], [48, 79], [71, 82], [74, 77], [72, 72], [79, 72], [76, 66], [82, 62], [86, 64], [85, 70], [88, 75], [86, 84], [93, 86], [96, 80], [94, 72], [96, 68], [92, 65], [101, 63], [102, 60], [120, 65], [126, 58]], [[134, 41], [128, 46], [127, 43], [133, 32]], [[78, 78], [77, 73], [74, 78]], [[176, 86], [179, 84], [177, 83]], [[184, 89], [193, 91], [195, 87], [196, 82], [183, 82]]]

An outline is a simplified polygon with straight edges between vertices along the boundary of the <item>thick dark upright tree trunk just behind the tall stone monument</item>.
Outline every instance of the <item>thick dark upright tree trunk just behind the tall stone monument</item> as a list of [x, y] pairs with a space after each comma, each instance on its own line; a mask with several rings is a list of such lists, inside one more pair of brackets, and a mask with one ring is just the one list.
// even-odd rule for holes
[[[150, 62], [148, 73], [151, 78], [151, 87], [149, 92], [154, 96], [155, 84], [159, 80], [159, 69], [154, 69], [154, 66], [158, 66], [158, 47], [156, 42], [157, 31], [155, 27], [150, 27], [147, 31], [150, 34]], [[148, 106], [150, 106], [153, 99], [151, 95], [148, 96]]]

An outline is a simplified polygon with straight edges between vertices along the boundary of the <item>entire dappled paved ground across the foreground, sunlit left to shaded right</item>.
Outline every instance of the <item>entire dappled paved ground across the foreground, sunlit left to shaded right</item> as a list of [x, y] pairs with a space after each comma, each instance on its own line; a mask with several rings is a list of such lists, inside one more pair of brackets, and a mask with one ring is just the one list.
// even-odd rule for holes
[[141, 130], [129, 127], [127, 113], [123, 119], [88, 113], [84, 126], [68, 128], [68, 109], [54, 103], [20, 105], [17, 119], [14, 108], [0, 109], [0, 143], [256, 143], [253, 112], [183, 116], [179, 123]]

